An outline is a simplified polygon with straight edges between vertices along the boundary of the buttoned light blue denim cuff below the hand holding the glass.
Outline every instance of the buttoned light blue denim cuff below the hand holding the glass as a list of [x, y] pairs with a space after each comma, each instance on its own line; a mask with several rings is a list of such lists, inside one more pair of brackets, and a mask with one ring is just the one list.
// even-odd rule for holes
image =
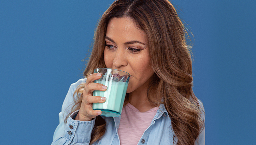
[[64, 137], [72, 143], [89, 143], [91, 132], [95, 124], [95, 118], [91, 121], [74, 120], [79, 110], [72, 113], [64, 129]]

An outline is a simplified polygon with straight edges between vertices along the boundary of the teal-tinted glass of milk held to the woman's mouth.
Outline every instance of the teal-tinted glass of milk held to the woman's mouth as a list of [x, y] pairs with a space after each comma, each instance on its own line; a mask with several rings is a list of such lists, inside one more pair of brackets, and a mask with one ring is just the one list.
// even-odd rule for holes
[[108, 87], [106, 91], [93, 91], [93, 96], [105, 97], [104, 103], [93, 103], [93, 110], [101, 110], [101, 116], [118, 117], [122, 112], [130, 74], [121, 70], [98, 68], [94, 73], [101, 73], [94, 83]]

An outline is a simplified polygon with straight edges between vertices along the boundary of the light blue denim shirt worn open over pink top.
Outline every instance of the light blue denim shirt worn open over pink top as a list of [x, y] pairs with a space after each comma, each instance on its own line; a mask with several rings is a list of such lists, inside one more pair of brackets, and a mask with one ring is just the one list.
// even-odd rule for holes
[[[73, 106], [73, 93], [78, 85], [85, 83], [86, 78], [79, 79], [69, 88], [68, 94], [63, 102], [61, 112], [59, 113], [59, 125], [53, 135], [52, 145], [89, 145], [91, 139], [91, 132], [93, 130], [95, 119], [91, 121], [74, 120], [74, 116], [79, 111], [72, 113], [67, 124], [64, 123], [64, 118], [71, 112]], [[199, 100], [202, 110], [202, 117], [204, 116], [204, 108], [202, 102]], [[120, 145], [118, 135], [118, 127], [120, 123], [119, 117], [102, 117], [106, 121], [105, 134], [94, 143], [94, 145]], [[171, 126], [171, 119], [163, 104], [151, 121], [151, 125], [145, 130], [138, 145], [173, 145], [173, 131]], [[205, 128], [200, 133], [195, 145], [205, 144]]]

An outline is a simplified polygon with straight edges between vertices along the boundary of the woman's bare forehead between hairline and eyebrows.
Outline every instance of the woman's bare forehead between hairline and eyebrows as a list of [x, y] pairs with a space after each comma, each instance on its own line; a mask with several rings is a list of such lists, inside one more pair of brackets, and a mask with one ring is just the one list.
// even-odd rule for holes
[[129, 17], [112, 18], [107, 27], [106, 36], [112, 39], [121, 39], [123, 41], [143, 41], [147, 42], [146, 33], [139, 29], [134, 21]]

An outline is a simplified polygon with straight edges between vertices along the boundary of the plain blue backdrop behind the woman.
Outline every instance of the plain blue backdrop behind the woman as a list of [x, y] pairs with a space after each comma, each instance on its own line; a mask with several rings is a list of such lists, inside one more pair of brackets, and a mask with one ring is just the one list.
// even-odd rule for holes
[[[112, 2], [0, 1], [0, 144], [51, 144]], [[194, 34], [193, 89], [206, 112], [206, 144], [255, 144], [256, 2], [171, 2]]]

